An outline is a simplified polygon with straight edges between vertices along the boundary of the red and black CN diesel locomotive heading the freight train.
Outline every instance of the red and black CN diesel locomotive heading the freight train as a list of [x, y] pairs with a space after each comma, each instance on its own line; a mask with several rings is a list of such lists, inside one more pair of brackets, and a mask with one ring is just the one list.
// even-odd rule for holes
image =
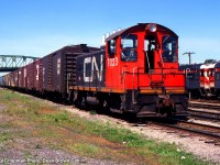
[[185, 75], [178, 70], [178, 36], [140, 23], [106, 38], [105, 51], [77, 56], [75, 99], [97, 101], [138, 117], [187, 116]]

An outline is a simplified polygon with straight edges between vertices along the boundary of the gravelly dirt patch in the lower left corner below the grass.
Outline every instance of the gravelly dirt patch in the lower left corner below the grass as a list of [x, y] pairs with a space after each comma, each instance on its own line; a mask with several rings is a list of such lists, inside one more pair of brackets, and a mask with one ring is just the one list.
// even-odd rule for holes
[[[32, 99], [42, 101], [38, 98], [29, 96]], [[55, 107], [65, 107], [45, 101]], [[51, 147], [40, 136], [33, 138], [34, 125], [19, 121], [14, 116], [4, 113], [7, 105], [0, 105], [0, 164], [24, 165], [24, 164], [90, 164], [90, 165], [117, 165], [132, 164], [112, 160], [89, 158], [73, 154], [64, 150]], [[12, 123], [19, 123], [12, 127]], [[14, 134], [18, 136], [14, 138]], [[13, 138], [12, 138], [13, 135]]]

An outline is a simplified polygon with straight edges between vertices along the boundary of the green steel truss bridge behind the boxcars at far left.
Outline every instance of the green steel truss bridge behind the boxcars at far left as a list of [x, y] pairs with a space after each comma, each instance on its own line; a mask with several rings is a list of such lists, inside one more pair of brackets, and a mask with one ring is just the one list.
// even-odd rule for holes
[[37, 57], [24, 55], [0, 55], [0, 73], [13, 72], [36, 59]]

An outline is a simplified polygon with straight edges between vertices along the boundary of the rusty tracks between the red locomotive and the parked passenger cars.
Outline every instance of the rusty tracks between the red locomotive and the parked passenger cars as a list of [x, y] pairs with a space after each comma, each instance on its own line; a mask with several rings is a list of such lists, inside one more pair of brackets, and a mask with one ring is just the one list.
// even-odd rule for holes
[[220, 103], [211, 100], [189, 101], [188, 112], [193, 118], [220, 121]]

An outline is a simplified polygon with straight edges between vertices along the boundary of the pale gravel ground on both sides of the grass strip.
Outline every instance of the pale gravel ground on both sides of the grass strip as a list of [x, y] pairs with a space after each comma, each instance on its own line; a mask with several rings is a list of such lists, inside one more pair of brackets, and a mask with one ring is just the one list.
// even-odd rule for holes
[[[170, 133], [169, 131], [161, 130], [160, 128], [147, 124], [134, 127], [121, 119], [111, 118], [105, 114], [91, 114], [88, 111], [81, 111], [73, 106], [63, 106], [32, 96], [29, 97], [50, 106], [54, 106], [58, 109], [69, 111], [79, 117], [87, 118], [88, 120], [99, 120], [102, 122], [112, 123], [119, 128], [125, 128], [138, 132], [147, 139], [175, 143], [179, 146], [179, 151], [184, 150], [186, 152], [191, 152], [200, 158], [213, 161], [216, 164], [220, 164], [220, 146], [205, 143], [205, 140], [201, 140], [199, 136], [182, 136], [180, 133]], [[85, 156], [73, 155], [62, 150], [52, 150], [52, 147], [48, 147], [48, 145], [42, 143], [41, 138], [20, 138], [10, 140], [8, 134], [11, 132], [18, 132], [19, 134], [24, 130], [11, 129], [10, 127], [7, 127], [10, 121], [16, 120], [16, 117], [2, 113], [6, 108], [7, 105], [0, 105], [0, 133], [3, 135], [1, 139], [7, 139], [7, 143], [4, 143], [4, 141], [0, 141], [0, 164], [134, 164], [128, 162], [114, 162], [112, 160], [102, 161], [98, 158], [88, 158]], [[32, 125], [25, 125], [24, 128], [26, 133], [33, 131]]]

